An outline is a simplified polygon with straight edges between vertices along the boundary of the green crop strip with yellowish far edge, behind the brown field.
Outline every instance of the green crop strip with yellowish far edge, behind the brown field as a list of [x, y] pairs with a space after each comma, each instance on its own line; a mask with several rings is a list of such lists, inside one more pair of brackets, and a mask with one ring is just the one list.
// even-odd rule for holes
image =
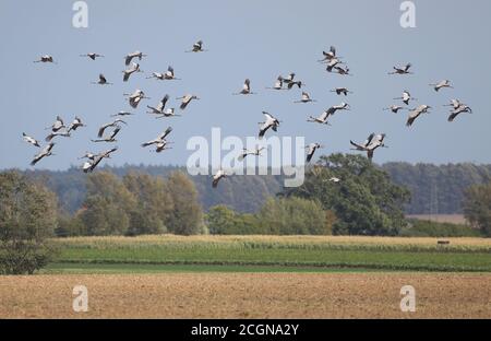
[[[56, 239], [47, 271], [391, 271], [491, 272], [491, 240], [314, 236], [140, 236]], [[207, 269], [207, 270], [206, 270]]]

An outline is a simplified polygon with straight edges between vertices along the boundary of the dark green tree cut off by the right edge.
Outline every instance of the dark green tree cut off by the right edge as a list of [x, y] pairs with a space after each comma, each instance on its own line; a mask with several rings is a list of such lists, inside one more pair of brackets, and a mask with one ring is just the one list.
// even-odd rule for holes
[[491, 237], [491, 183], [475, 185], [465, 191], [464, 214], [472, 226]]

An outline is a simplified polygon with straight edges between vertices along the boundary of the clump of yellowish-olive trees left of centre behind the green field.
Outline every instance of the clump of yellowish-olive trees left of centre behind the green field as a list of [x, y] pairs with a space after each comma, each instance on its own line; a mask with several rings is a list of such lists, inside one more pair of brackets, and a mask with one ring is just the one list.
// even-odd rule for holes
[[63, 214], [59, 236], [203, 233], [203, 211], [193, 181], [181, 172], [167, 178], [131, 172], [122, 178], [97, 172], [86, 179], [86, 197], [72, 215]]

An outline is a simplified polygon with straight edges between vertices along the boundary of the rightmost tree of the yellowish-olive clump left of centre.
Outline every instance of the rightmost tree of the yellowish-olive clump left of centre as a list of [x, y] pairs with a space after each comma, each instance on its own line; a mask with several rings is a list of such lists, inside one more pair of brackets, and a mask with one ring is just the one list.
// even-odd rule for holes
[[173, 210], [168, 228], [178, 235], [199, 234], [203, 230], [203, 211], [194, 183], [182, 172], [173, 172], [167, 179]]

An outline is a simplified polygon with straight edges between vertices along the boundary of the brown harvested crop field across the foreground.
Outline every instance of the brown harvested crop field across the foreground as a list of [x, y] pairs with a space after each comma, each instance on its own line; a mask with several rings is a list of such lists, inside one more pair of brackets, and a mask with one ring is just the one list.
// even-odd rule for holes
[[[74, 313], [72, 290], [88, 290]], [[400, 289], [416, 290], [402, 313]], [[491, 318], [491, 274], [161, 273], [0, 277], [0, 318]]]

